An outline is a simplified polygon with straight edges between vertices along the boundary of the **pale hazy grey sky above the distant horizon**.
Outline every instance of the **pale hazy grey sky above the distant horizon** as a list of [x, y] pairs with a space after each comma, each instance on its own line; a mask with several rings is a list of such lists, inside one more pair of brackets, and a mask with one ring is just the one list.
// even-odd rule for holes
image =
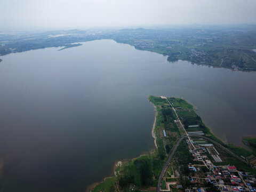
[[256, 0], [0, 0], [0, 30], [256, 24]]

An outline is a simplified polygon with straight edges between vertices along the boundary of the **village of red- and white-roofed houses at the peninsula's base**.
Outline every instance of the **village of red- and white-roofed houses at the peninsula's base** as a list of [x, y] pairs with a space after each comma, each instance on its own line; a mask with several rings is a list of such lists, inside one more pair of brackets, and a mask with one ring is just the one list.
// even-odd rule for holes
[[[217, 191], [256, 191], [256, 178], [249, 172], [242, 172], [233, 165], [220, 165], [222, 157], [213, 143], [202, 138], [191, 137], [186, 143], [193, 162], [189, 163], [187, 179], [195, 187], [183, 189], [179, 184], [179, 175], [175, 175], [172, 165], [163, 178], [161, 191], [206, 192], [209, 186]], [[214, 165], [218, 164], [218, 165]]]

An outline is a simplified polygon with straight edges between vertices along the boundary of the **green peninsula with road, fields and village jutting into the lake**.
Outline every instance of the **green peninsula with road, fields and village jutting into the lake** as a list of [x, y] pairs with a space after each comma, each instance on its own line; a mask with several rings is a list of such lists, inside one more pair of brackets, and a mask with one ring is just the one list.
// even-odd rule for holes
[[92, 191], [250, 191], [255, 151], [223, 143], [194, 107], [180, 98], [148, 98], [156, 109], [156, 149], [129, 162], [117, 162], [113, 177]]

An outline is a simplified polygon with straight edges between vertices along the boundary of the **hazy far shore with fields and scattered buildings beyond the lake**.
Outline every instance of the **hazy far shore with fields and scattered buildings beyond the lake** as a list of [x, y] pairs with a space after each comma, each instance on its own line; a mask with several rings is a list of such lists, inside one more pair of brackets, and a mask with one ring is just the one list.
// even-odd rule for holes
[[[139, 50], [156, 52], [167, 60], [232, 70], [256, 70], [256, 26], [186, 26], [159, 29], [0, 31], [0, 56], [45, 47], [60, 50], [77, 42], [113, 39]], [[75, 44], [74, 44], [75, 43]], [[1, 60], [0, 60], [1, 61]]]

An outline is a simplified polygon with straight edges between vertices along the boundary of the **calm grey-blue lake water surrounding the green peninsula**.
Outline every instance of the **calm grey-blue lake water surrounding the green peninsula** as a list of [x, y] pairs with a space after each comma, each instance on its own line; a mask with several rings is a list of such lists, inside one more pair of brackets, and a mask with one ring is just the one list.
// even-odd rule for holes
[[256, 73], [169, 63], [111, 40], [0, 63], [0, 176], [15, 191], [83, 191], [154, 148], [147, 96], [182, 97], [223, 140], [256, 135]]

